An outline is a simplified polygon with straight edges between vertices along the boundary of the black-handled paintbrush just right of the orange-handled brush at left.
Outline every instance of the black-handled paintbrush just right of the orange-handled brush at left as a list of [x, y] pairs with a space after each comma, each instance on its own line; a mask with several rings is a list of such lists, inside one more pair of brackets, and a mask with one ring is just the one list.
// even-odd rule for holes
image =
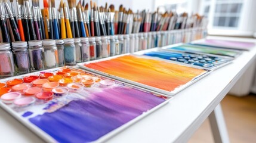
[[35, 29], [33, 27], [33, 17], [32, 13], [30, 11], [30, 4], [29, 0], [24, 0], [24, 7], [26, 7], [27, 15], [28, 15], [28, 21], [29, 21], [29, 33], [30, 33], [30, 40], [36, 40], [36, 33]]

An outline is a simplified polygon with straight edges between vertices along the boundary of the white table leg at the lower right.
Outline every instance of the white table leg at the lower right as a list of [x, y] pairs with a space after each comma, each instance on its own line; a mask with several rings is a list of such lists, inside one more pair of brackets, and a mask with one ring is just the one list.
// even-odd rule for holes
[[211, 125], [212, 135], [214, 136], [214, 142], [228, 143], [229, 135], [227, 133], [226, 123], [220, 104], [218, 104], [209, 115], [209, 122]]

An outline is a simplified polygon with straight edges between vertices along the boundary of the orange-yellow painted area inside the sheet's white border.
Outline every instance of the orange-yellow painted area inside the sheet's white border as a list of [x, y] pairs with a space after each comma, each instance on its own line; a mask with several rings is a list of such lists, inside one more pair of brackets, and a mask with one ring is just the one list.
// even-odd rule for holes
[[207, 72], [203, 69], [135, 55], [124, 55], [110, 60], [84, 64], [84, 66], [168, 92], [180, 88]]

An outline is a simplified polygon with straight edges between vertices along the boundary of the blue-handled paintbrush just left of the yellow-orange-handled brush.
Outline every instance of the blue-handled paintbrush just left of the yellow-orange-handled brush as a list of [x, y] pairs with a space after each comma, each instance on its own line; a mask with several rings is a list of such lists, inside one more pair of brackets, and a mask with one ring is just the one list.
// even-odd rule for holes
[[[49, 23], [52, 23], [51, 32], [53, 32], [53, 34], [51, 34], [51, 36], [53, 36], [52, 39], [60, 39], [60, 36], [59, 36], [60, 33], [58, 33], [58, 22], [57, 22], [56, 8], [55, 8], [55, 0], [50, 0], [50, 2], [51, 2], [51, 5], [50, 5], [51, 11], [50, 11], [50, 13], [53, 16], [52, 17], [53, 21], [50, 21], [51, 20], [51, 14], [49, 14]], [[50, 25], [50, 29], [51, 29], [51, 25]]]

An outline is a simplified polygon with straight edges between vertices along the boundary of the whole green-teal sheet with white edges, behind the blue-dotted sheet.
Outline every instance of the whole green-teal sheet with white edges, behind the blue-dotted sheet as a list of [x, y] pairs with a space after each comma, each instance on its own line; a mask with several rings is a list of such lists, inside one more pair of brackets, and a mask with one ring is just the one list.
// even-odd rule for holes
[[212, 48], [209, 46], [198, 46], [191, 44], [176, 44], [171, 46], [162, 47], [164, 50], [172, 50], [172, 51], [181, 51], [193, 54], [212, 54], [212, 55], [221, 55], [228, 57], [238, 57], [238, 55], [242, 54], [241, 51], [233, 50], [233, 49], [223, 49], [223, 48]]

